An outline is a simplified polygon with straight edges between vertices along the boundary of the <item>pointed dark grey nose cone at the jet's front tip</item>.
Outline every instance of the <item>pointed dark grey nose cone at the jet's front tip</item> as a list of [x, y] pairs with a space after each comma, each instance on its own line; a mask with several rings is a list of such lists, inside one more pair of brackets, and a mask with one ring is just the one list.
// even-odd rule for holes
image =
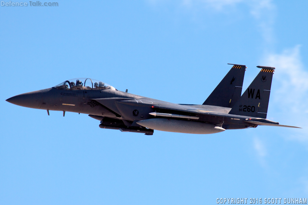
[[42, 92], [38, 90], [16, 95], [6, 99], [6, 101], [22, 107], [39, 108], [42, 102], [42, 97]]

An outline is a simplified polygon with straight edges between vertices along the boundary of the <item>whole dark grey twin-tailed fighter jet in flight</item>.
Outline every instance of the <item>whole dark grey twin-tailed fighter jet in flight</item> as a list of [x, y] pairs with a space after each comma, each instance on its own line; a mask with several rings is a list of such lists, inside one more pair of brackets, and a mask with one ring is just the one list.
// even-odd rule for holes
[[[99, 127], [153, 135], [154, 130], [213, 134], [258, 125], [280, 125], [266, 119], [274, 67], [261, 71], [243, 95], [245, 65], [233, 65], [202, 105], [175, 104], [115, 89], [102, 81], [75, 78], [51, 88], [7, 99], [15, 105], [49, 111], [88, 114]], [[300, 128], [300, 127], [293, 127]]]

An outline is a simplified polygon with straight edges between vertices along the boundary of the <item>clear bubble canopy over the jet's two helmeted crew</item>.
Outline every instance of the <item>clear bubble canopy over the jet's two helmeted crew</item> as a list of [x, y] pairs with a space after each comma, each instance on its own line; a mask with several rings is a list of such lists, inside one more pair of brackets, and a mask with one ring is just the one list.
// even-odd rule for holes
[[114, 87], [108, 85], [107, 83], [91, 78], [74, 78], [64, 81], [54, 87], [59, 90], [115, 90]]

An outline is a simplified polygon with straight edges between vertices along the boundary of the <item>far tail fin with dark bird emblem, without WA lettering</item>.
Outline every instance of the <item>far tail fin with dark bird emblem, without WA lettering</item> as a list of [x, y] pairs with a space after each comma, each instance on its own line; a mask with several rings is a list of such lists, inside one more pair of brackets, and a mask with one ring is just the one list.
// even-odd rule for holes
[[205, 100], [203, 105], [233, 107], [241, 97], [246, 66], [237, 64], [229, 65], [233, 65], [233, 67]]

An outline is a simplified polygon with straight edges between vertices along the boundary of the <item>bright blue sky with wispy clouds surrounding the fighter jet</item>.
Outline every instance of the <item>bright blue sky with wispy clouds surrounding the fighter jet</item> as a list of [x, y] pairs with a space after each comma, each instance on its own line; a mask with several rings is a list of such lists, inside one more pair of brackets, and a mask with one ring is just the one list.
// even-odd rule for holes
[[[308, 196], [307, 1], [58, 1], [0, 7], [2, 204], [214, 204]], [[5, 101], [71, 78], [202, 104], [230, 65], [246, 89], [276, 67], [279, 127], [212, 135], [99, 128], [87, 115]], [[243, 90], [244, 90], [243, 89]]]

